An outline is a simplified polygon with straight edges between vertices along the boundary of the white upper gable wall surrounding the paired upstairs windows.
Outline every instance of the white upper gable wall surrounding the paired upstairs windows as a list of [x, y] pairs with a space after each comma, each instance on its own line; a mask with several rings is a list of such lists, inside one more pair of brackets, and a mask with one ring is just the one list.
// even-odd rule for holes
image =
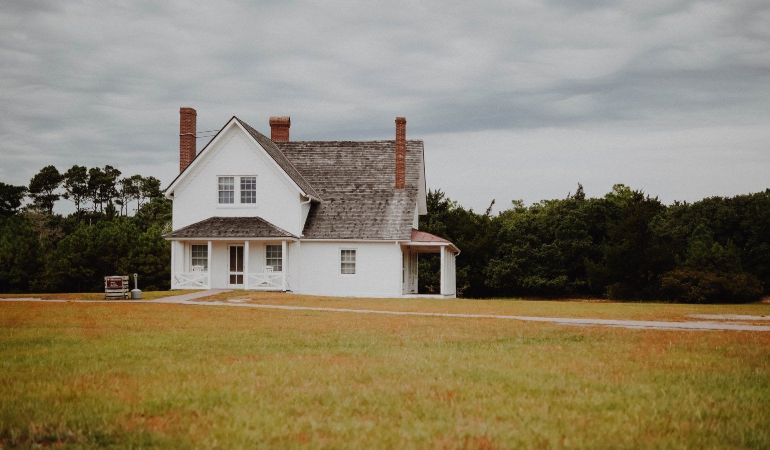
[[[214, 216], [259, 216], [300, 235], [300, 193], [273, 158], [243, 130], [231, 126], [201, 158], [174, 189], [173, 229]], [[239, 205], [239, 198], [234, 205], [219, 205], [217, 177], [221, 175], [256, 175], [256, 205]]]

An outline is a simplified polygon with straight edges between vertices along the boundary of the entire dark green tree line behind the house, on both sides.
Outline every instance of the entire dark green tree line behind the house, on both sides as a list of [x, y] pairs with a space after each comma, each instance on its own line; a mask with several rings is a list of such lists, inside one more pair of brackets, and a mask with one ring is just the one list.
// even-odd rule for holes
[[[98, 292], [105, 275], [139, 272], [167, 289], [171, 202], [157, 178], [109, 165], [42, 168], [27, 186], [0, 182], [0, 292]], [[56, 202], [75, 212], [59, 215]], [[514, 201], [492, 214], [427, 195], [420, 229], [450, 239], [464, 297], [603, 297], [752, 302], [770, 293], [770, 189], [664, 205], [625, 185], [601, 198]], [[437, 292], [421, 255], [420, 292]]]

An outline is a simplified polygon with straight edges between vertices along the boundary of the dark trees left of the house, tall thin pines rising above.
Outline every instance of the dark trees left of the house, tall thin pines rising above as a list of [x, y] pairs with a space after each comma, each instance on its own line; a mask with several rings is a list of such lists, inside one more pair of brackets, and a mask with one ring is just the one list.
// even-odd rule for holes
[[[48, 165], [26, 186], [0, 182], [0, 292], [99, 292], [102, 277], [134, 272], [168, 289], [171, 202], [157, 178], [121, 175]], [[56, 214], [62, 200], [75, 212]]]

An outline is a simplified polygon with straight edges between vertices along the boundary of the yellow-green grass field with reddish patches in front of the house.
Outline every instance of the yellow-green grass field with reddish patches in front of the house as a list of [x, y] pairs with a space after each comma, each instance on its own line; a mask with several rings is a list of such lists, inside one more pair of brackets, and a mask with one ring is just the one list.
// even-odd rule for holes
[[[593, 317], [710, 312], [255, 296], [279, 300]], [[770, 333], [39, 302], [0, 302], [0, 327], [4, 448], [770, 448]]]

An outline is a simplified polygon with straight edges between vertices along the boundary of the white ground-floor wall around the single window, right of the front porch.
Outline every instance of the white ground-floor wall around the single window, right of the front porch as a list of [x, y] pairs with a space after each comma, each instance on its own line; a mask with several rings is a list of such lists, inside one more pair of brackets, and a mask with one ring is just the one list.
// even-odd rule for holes
[[[340, 273], [340, 250], [356, 249], [356, 274]], [[400, 297], [401, 249], [394, 242], [301, 243], [300, 284], [294, 292], [343, 297]]]

